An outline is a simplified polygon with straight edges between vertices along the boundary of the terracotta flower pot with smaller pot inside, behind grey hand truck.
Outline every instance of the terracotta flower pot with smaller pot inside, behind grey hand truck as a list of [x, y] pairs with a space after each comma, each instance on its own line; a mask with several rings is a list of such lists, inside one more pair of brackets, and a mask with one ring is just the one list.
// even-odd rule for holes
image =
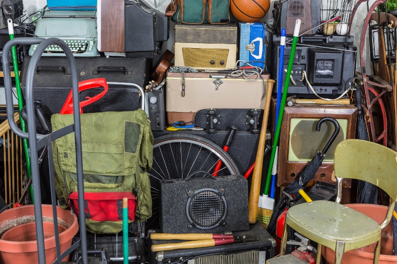
[[[52, 206], [43, 205], [42, 211], [46, 263], [52, 264], [57, 258]], [[78, 231], [78, 223], [76, 215], [70, 214], [70, 210], [57, 207], [57, 214], [62, 253], [70, 247]], [[3, 211], [0, 214], [0, 236], [0, 263], [38, 263], [33, 205]], [[63, 261], [67, 261], [67, 257]]]

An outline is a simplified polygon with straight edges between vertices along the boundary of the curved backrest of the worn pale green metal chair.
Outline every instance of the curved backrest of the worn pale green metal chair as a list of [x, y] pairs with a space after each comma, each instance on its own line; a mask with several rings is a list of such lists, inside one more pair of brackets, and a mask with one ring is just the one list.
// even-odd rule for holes
[[397, 153], [370, 141], [340, 142], [334, 155], [335, 176], [367, 181], [397, 200]]

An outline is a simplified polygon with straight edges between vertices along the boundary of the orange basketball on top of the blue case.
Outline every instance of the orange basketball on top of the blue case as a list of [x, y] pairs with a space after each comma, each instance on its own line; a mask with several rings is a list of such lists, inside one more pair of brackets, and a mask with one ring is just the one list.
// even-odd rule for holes
[[230, 0], [233, 15], [241, 22], [261, 20], [270, 8], [270, 0]]

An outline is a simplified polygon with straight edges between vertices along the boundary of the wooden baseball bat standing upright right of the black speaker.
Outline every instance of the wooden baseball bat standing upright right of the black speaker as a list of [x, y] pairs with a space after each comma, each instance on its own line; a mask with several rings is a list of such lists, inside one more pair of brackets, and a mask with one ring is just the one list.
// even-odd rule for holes
[[255, 159], [254, 173], [252, 174], [252, 182], [250, 189], [250, 197], [248, 200], [248, 220], [250, 224], [255, 224], [257, 221], [258, 214], [258, 202], [259, 195], [261, 192], [261, 180], [262, 180], [262, 163], [264, 160], [265, 152], [265, 140], [267, 130], [267, 120], [269, 117], [271, 92], [273, 91], [274, 80], [266, 80], [266, 97], [265, 97], [265, 108], [264, 117], [262, 120], [261, 135], [259, 136], [257, 158]]

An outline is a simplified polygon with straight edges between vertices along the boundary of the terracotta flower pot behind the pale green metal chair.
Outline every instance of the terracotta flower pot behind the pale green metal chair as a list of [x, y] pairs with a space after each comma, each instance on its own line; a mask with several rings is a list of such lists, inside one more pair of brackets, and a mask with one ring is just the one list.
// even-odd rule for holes
[[[364, 213], [378, 223], [385, 219], [388, 207], [369, 204], [346, 205]], [[372, 264], [374, 260], [375, 243], [360, 249], [350, 250], [343, 254], [342, 264]], [[328, 264], [333, 264], [335, 253], [329, 248], [323, 248], [323, 256]], [[393, 256], [393, 221], [382, 230], [381, 256], [379, 264], [397, 264], [397, 256]]]

